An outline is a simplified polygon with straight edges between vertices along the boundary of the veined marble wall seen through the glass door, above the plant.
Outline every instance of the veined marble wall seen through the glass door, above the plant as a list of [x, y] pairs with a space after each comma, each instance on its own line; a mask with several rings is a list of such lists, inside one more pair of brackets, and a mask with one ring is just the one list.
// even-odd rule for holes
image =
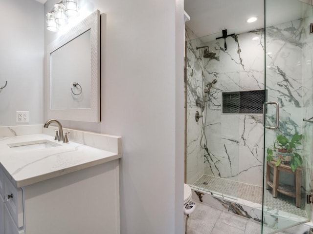
[[[302, 132], [302, 23], [303, 20], [293, 20], [267, 28], [268, 100], [277, 100], [280, 105], [279, 131], [269, 131], [268, 143], [273, 143], [277, 134], [291, 136]], [[270, 126], [275, 125], [275, 111], [268, 107]], [[271, 114], [273, 117], [269, 118]]]

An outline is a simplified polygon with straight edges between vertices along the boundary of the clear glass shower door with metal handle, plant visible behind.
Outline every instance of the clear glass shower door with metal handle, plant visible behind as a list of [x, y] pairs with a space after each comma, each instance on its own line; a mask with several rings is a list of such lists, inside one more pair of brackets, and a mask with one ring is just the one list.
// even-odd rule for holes
[[[294, 15], [274, 20], [291, 9]], [[298, 0], [265, 1], [263, 234], [311, 219], [313, 123], [304, 119], [313, 117], [312, 12]]]

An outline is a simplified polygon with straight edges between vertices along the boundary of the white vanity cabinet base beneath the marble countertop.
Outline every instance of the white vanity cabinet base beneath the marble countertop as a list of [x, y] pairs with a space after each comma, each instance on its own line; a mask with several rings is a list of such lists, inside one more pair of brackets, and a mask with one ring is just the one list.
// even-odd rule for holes
[[22, 188], [0, 169], [0, 234], [119, 234], [118, 161]]

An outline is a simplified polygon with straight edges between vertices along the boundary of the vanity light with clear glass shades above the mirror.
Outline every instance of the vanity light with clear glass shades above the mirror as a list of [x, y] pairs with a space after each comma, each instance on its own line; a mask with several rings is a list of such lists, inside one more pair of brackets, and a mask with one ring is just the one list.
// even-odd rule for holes
[[53, 10], [46, 13], [47, 30], [59, 31], [59, 27], [66, 25], [70, 17], [79, 15], [77, 8], [77, 0], [61, 0], [54, 4]]

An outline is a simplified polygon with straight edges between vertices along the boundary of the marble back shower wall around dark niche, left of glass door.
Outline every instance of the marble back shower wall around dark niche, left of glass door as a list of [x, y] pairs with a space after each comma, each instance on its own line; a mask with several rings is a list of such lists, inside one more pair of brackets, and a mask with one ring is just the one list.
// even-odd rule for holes
[[263, 125], [260, 114], [222, 114], [222, 92], [264, 89], [264, 30], [207, 43], [216, 52], [206, 61], [206, 82], [217, 79], [207, 102], [208, 156], [204, 173], [262, 185]]

